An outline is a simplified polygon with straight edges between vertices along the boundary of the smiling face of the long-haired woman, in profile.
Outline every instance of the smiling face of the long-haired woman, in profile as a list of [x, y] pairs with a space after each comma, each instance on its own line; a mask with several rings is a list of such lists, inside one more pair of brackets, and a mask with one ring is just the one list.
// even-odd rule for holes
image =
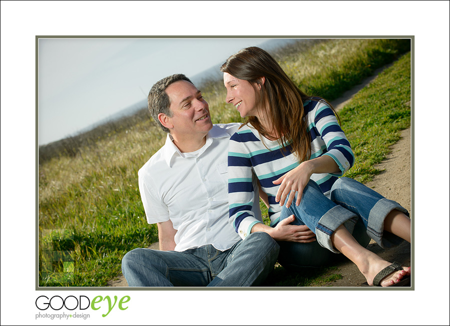
[[239, 111], [241, 117], [251, 115], [259, 116], [254, 88], [249, 81], [233, 77], [229, 73], [224, 72], [223, 83], [226, 88], [225, 101], [233, 104]]

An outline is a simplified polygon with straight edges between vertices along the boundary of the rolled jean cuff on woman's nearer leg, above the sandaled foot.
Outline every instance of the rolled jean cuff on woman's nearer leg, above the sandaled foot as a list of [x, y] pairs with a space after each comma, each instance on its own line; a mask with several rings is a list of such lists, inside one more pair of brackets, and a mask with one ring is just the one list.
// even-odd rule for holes
[[358, 216], [355, 213], [342, 206], [334, 206], [320, 217], [315, 227], [315, 236], [318, 243], [332, 252], [340, 253], [331, 243], [331, 234], [342, 224], [351, 234], [357, 218]]

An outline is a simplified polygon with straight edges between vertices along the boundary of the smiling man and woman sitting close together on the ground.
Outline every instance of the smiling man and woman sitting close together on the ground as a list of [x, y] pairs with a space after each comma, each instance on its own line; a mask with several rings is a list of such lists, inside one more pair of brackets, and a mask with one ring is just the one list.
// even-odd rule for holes
[[276, 260], [288, 269], [318, 267], [338, 252], [366, 285], [409, 285], [410, 267], [365, 248], [370, 238], [382, 247], [410, 242], [408, 213], [339, 178], [354, 156], [332, 106], [299, 90], [258, 47], [233, 54], [220, 70], [226, 102], [248, 117], [243, 125], [212, 124], [208, 103], [183, 74], [148, 94], [167, 139], [138, 178], [160, 250], [125, 254], [128, 285], [255, 286]]

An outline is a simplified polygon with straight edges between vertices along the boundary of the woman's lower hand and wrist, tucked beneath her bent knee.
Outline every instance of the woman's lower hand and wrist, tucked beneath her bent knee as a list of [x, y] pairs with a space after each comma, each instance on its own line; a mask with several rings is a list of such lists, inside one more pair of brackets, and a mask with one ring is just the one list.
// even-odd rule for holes
[[315, 241], [315, 234], [306, 225], [292, 225], [295, 220], [294, 215], [280, 221], [275, 227], [256, 223], [251, 228], [251, 232], [266, 232], [277, 241], [312, 242]]

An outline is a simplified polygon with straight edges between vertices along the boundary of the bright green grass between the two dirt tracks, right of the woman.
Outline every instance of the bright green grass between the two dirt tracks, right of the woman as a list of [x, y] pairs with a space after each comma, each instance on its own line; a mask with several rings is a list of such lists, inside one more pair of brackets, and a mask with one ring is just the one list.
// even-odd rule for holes
[[[379, 173], [373, 168], [410, 125], [410, 54], [401, 57], [339, 112], [342, 129], [356, 157], [346, 176], [365, 183]], [[356, 117], [356, 118], [355, 118]]]

